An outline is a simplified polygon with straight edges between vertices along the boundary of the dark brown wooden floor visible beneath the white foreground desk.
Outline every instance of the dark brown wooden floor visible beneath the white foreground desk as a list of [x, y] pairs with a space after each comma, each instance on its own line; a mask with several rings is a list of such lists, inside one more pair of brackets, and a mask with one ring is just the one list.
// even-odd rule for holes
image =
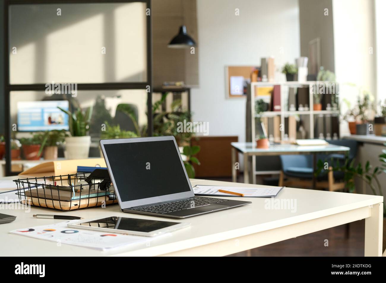
[[[242, 177], [238, 182], [242, 183]], [[229, 256], [364, 256], [364, 220], [352, 222], [349, 227], [349, 238], [345, 237], [346, 226], [341, 225]]]

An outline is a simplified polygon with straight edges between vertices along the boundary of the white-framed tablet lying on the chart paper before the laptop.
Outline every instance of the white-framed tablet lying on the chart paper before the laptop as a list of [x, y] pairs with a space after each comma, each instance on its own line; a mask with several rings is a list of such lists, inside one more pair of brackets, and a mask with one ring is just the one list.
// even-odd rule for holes
[[154, 237], [188, 227], [190, 223], [111, 216], [95, 220], [82, 220], [67, 226], [78, 229]]

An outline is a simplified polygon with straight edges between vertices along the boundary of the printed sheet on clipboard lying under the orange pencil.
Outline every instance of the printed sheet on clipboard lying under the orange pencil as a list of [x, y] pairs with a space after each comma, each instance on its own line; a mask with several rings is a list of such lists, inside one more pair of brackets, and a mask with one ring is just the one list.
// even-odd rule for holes
[[277, 196], [284, 187], [262, 186], [260, 188], [248, 187], [228, 187], [228, 186], [207, 186], [196, 185], [193, 187], [193, 193], [203, 196], [236, 196], [234, 194], [222, 193], [218, 190], [231, 191], [234, 193], [244, 194], [244, 198], [269, 198]]

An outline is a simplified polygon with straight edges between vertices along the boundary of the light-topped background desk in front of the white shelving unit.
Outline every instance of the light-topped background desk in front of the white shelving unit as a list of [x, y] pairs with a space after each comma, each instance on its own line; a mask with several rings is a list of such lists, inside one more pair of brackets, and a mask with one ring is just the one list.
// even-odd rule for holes
[[[232, 146], [232, 182], [237, 181], [235, 162], [237, 152], [244, 156], [244, 183], [249, 182], [249, 170], [251, 170], [252, 184], [256, 183], [256, 159], [255, 156], [275, 156], [281, 154], [313, 154], [313, 169], [316, 168], [316, 156], [321, 153], [345, 153], [350, 150], [349, 147], [336, 146], [334, 144], [327, 144], [325, 146], [297, 146], [295, 144], [273, 144], [269, 148], [257, 148], [255, 142], [231, 142]], [[252, 156], [252, 168], [249, 168], [248, 157]], [[267, 173], [269, 174], [269, 173]], [[316, 178], [312, 179], [313, 188], [315, 189]]]

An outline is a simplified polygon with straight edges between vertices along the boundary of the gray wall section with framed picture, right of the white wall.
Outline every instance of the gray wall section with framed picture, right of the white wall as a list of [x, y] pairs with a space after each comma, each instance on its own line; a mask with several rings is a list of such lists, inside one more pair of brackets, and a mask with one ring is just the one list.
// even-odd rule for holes
[[[324, 9], [328, 15], [324, 15]], [[320, 38], [321, 66], [335, 72], [332, 0], [299, 0], [300, 55], [308, 57], [308, 43]]]

